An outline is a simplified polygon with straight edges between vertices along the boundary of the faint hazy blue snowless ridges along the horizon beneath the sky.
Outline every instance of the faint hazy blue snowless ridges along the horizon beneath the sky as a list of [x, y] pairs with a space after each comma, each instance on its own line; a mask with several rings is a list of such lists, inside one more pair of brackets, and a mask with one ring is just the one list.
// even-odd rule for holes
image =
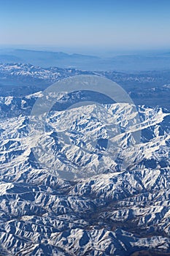
[[82, 54], [40, 50], [1, 50], [0, 63], [26, 63], [39, 67], [61, 67], [90, 71], [125, 72], [170, 69], [169, 53], [147, 53], [101, 58]]

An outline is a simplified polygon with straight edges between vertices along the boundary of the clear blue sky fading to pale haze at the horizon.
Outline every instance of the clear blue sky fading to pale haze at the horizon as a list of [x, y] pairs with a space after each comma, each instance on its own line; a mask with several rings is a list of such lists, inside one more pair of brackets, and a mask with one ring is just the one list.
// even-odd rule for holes
[[170, 48], [169, 0], [0, 0], [0, 45]]

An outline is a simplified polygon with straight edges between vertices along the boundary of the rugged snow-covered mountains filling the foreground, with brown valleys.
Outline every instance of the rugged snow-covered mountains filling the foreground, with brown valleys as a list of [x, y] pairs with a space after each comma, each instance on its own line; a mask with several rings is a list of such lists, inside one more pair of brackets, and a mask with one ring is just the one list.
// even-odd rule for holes
[[169, 112], [53, 109], [34, 138], [38, 97], [1, 97], [0, 255], [169, 255]]

